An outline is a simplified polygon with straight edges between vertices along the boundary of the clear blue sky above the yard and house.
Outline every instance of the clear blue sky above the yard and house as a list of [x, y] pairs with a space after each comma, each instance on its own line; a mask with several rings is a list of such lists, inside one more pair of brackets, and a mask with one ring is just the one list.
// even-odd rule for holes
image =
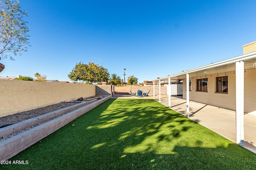
[[80, 61], [154, 80], [242, 55], [256, 41], [255, 0], [20, 0], [30, 45], [0, 76], [70, 81]]

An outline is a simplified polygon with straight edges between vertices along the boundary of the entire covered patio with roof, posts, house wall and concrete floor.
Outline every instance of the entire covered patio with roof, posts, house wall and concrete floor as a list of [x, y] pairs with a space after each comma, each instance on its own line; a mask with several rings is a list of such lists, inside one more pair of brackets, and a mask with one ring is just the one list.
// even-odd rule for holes
[[[168, 86], [170, 86], [171, 80], [183, 80], [183, 99], [173, 100], [170, 90], [168, 90], [168, 97], [164, 101], [162, 101], [161, 94], [154, 99], [186, 117], [195, 119], [195, 121], [200, 115], [198, 120], [206, 122], [209, 129], [220, 134], [226, 133], [223, 136], [237, 144], [255, 149], [256, 141], [253, 141], [253, 137], [256, 136], [254, 134], [256, 127], [256, 116], [254, 115], [256, 112], [255, 63], [256, 52], [252, 52], [155, 79], [153, 83], [159, 83], [157, 87], [159, 92], [161, 91], [161, 81], [167, 80]], [[226, 91], [222, 89], [224, 88], [222, 81], [220, 82], [222, 90], [217, 90], [219, 88], [218, 78], [226, 78]], [[202, 82], [205, 84], [200, 84]], [[153, 96], [155, 96], [155, 92], [153, 92]], [[179, 100], [182, 102], [176, 104]], [[247, 117], [248, 121], [245, 120]], [[252, 134], [252, 138], [248, 134]]]

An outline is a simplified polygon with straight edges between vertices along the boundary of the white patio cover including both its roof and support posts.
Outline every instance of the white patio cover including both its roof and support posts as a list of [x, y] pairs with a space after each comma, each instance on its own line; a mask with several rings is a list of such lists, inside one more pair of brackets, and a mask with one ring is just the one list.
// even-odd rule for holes
[[[191, 70], [185, 70], [183, 72], [158, 78], [153, 81], [162, 81], [174, 79], [186, 78], [186, 109], [187, 117], [189, 117], [190, 106], [189, 106], [189, 77], [205, 76], [207, 74], [221, 74], [225, 72], [236, 72], [236, 143], [244, 145], [244, 70], [256, 68], [256, 51], [248, 54], [244, 54], [238, 57], [220, 61], [217, 63], [208, 64], [206, 66], [194, 68]], [[161, 102], [161, 86], [159, 86], [159, 102]], [[155, 89], [154, 89], [155, 90]], [[155, 93], [155, 92], [153, 92]], [[171, 106], [170, 94], [168, 104]]]

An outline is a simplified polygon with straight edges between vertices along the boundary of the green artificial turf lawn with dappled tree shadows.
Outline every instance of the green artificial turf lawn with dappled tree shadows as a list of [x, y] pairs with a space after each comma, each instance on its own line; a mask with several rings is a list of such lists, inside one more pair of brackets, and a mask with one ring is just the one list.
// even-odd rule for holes
[[[74, 125], [74, 126], [72, 126]], [[109, 99], [0, 169], [255, 169], [256, 154], [154, 100]]]

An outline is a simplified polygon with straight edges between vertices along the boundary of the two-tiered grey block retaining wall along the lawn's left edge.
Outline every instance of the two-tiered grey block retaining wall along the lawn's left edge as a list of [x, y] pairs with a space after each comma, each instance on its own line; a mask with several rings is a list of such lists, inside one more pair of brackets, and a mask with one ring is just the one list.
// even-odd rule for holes
[[[70, 113], [67, 113], [60, 117], [57, 117], [56, 119], [48, 121], [42, 125], [34, 127], [32, 129], [29, 129], [28, 131], [24, 131], [18, 135], [15, 135], [9, 139], [6, 139], [6, 140], [0, 142], [0, 161], [8, 160], [9, 158], [18, 154], [22, 150], [30, 147], [34, 143], [40, 141], [44, 137], [50, 135], [54, 131], [60, 129], [64, 125], [66, 125], [66, 124], [70, 123], [71, 121], [73, 121], [74, 119], [80, 117], [84, 113], [86, 113], [86, 112], [90, 111], [91, 109], [95, 108], [96, 106], [102, 104], [109, 98], [111, 98], [111, 96], [102, 98], [101, 100], [98, 100], [92, 104], [83, 106], [79, 109], [71, 111]], [[66, 109], [70, 111], [71, 109], [74, 109], [75, 106], [77, 108], [77, 107], [84, 105], [85, 103], [86, 102], [82, 102], [81, 104], [78, 104], [79, 106], [74, 105], [74, 106], [70, 106], [68, 108], [66, 107]], [[67, 111], [64, 109], [65, 108], [60, 109], [60, 110], [62, 110], [62, 113], [65, 113]], [[38, 117], [28, 119], [28, 120], [22, 121], [20, 123], [16, 123], [14, 125], [10, 125], [8, 127], [1, 128], [1, 131], [0, 131], [1, 137], [6, 136], [4, 134], [12, 134], [14, 131], [19, 131], [21, 129], [28, 127], [29, 125], [32, 125], [32, 124], [35, 125], [39, 121], [47, 120], [50, 117], [55, 117], [56, 115], [60, 115], [61, 114], [60, 110], [51, 112], [51, 113], [47, 113], [45, 116], [40, 115]]]

